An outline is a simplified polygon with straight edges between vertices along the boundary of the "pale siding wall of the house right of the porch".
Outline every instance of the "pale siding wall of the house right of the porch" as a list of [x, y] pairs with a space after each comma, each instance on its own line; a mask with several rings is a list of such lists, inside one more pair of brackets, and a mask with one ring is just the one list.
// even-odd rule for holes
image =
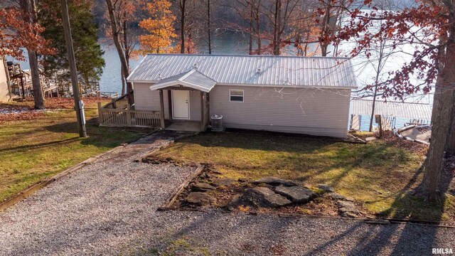
[[[244, 102], [230, 102], [229, 90], [244, 90]], [[225, 127], [346, 137], [350, 90], [215, 85], [210, 115]]]

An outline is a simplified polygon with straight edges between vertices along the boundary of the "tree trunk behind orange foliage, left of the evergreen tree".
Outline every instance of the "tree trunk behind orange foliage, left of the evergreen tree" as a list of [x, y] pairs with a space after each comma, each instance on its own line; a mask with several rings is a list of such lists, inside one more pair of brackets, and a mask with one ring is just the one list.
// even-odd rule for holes
[[[35, 0], [21, 0], [21, 9], [24, 12], [24, 20], [27, 23], [36, 23], [37, 16], [36, 16], [36, 4]], [[36, 56], [36, 52], [30, 49], [28, 51], [28, 62], [30, 63], [30, 73], [33, 85], [33, 100], [35, 102], [35, 108], [37, 110], [44, 109], [44, 94], [43, 88], [41, 87], [41, 79], [40, 79], [40, 70], [38, 67], [38, 58]]]

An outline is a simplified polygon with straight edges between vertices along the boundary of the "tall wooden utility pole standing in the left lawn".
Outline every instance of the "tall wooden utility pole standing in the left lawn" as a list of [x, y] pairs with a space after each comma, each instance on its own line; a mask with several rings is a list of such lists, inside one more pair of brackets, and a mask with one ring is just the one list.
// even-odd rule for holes
[[67, 0], [62, 0], [63, 30], [65, 31], [66, 51], [68, 53], [68, 63], [70, 65], [71, 84], [73, 85], [77, 128], [79, 129], [79, 137], [86, 138], [87, 132], [85, 131], [84, 103], [80, 100], [79, 86], [77, 85], [77, 70], [73, 49], [73, 38], [71, 36], [70, 16], [68, 15], [68, 4], [66, 1]]

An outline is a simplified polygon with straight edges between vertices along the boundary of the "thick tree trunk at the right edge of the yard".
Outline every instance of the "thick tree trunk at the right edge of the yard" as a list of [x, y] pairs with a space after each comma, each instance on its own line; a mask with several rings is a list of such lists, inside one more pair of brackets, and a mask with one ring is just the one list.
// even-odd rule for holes
[[[429, 201], [437, 201], [441, 193], [439, 181], [441, 177], [442, 159], [446, 149], [446, 140], [451, 129], [451, 109], [454, 105], [453, 81], [455, 79], [455, 25], [452, 23], [449, 40], [446, 43], [444, 67], [441, 68], [434, 91], [432, 111], [432, 141], [429, 146], [427, 160], [424, 163], [424, 178], [422, 181], [424, 197]], [[441, 50], [440, 50], [441, 51]]]

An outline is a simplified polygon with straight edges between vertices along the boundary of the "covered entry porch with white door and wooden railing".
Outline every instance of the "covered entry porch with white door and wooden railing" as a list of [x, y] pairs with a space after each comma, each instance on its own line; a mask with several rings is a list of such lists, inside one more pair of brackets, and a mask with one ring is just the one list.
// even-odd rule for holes
[[[134, 105], [129, 105], [125, 96], [104, 106], [99, 104], [100, 126], [159, 127], [172, 131], [203, 132], [210, 119], [208, 92], [184, 85], [156, 88], [160, 84], [151, 85], [146, 93], [134, 92]], [[152, 107], [144, 107], [136, 97], [150, 102]]]

